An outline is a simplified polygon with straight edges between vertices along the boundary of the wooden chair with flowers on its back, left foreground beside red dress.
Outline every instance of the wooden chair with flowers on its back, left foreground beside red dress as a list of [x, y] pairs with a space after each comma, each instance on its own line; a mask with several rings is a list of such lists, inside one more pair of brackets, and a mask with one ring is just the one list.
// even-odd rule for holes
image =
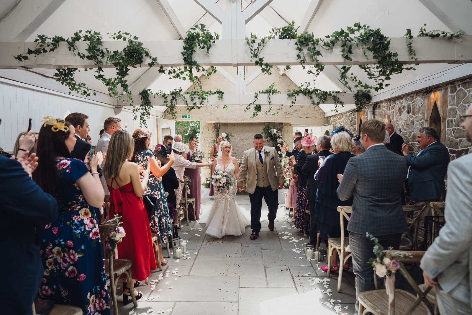
[[115, 228], [115, 224], [102, 224], [99, 226], [101, 246], [103, 248], [103, 264], [105, 265], [105, 275], [107, 279], [110, 279], [110, 298], [112, 301], [114, 314], [119, 315], [116, 291], [118, 280], [123, 273], [126, 274], [126, 279], [130, 285], [131, 299], [133, 300], [135, 307], [138, 306], [138, 302], [136, 301], [135, 290], [131, 285], [131, 283], [133, 283], [133, 277], [131, 273], [131, 266], [133, 265], [133, 262], [129, 259], [113, 259], [113, 251], [106, 248], [110, 232], [115, 230]]

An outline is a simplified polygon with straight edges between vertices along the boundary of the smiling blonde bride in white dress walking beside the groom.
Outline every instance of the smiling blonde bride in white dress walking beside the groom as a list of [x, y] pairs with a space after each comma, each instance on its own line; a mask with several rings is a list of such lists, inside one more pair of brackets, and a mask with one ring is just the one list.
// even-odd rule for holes
[[216, 238], [225, 235], [242, 235], [245, 233], [245, 227], [251, 224], [249, 213], [244, 208], [240, 208], [235, 200], [239, 166], [236, 159], [230, 155], [231, 144], [228, 141], [222, 141], [220, 148], [221, 155], [213, 163], [213, 173], [215, 170], [227, 171], [233, 176], [233, 184], [222, 192], [218, 192], [215, 185], [213, 186], [215, 202], [211, 206], [208, 217], [202, 220], [207, 227], [205, 233]]

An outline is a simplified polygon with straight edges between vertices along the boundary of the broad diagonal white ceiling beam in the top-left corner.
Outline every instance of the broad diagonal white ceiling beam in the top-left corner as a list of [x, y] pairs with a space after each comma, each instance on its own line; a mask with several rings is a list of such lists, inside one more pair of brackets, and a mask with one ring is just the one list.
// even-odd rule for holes
[[0, 20], [0, 42], [24, 42], [65, 0], [21, 0]]

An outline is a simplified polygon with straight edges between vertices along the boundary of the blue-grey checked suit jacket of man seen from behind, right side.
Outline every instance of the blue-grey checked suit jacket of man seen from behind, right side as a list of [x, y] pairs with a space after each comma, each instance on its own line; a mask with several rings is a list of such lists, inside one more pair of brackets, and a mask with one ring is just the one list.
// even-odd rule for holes
[[400, 193], [406, 177], [405, 158], [374, 145], [349, 159], [337, 196], [347, 200], [354, 194], [353, 213], [347, 225], [351, 232], [373, 236], [408, 230]]

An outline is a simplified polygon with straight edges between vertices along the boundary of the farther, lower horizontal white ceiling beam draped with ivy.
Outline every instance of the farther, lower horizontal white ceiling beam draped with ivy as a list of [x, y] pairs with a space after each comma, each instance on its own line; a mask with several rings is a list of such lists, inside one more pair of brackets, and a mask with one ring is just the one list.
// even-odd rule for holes
[[[267, 97], [270, 94], [259, 94], [258, 99], [254, 104], [256, 105], [264, 105], [267, 104]], [[338, 94], [339, 99], [343, 101], [345, 104], [352, 104], [354, 103], [354, 93], [343, 93]], [[185, 96], [188, 103], [192, 103], [189, 96]], [[139, 100], [139, 95], [133, 95], [133, 99]], [[242, 104], [249, 104], [253, 102], [254, 94], [223, 94], [223, 99], [219, 100], [218, 95], [210, 95], [208, 97], [208, 105], [242, 105]], [[270, 95], [270, 100], [274, 105], [279, 104], [291, 104], [292, 98], [287, 97], [287, 94], [273, 94]], [[313, 95], [313, 100], [316, 102], [317, 98]], [[160, 95], [152, 95], [151, 97], [152, 106], [162, 106], [164, 104], [164, 98]], [[334, 104], [332, 99], [326, 100], [325, 104]], [[120, 102], [118, 101], [118, 105]], [[308, 96], [299, 95], [296, 97], [295, 104], [297, 105], [307, 105], [312, 104], [310, 98]], [[125, 105], [123, 103], [123, 105]], [[177, 106], [184, 106], [185, 102], [182, 99], [177, 100]]]

